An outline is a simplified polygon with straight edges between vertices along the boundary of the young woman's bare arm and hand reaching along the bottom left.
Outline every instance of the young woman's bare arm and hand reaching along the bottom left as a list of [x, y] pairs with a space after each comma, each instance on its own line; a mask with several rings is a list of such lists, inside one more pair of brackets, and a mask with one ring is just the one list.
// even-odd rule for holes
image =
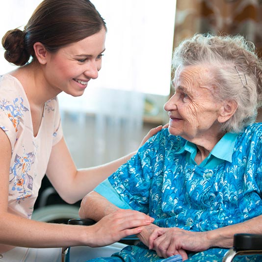
[[[8, 212], [11, 145], [0, 129], [0, 251], [11, 246], [102, 246], [141, 232], [149, 216], [133, 210], [117, 210], [93, 226], [73, 226], [29, 220]], [[22, 203], [23, 204], [23, 203]], [[19, 204], [18, 204], [19, 205]], [[9, 246], [7, 246], [9, 245]], [[11, 246], [10, 246], [11, 245]]]

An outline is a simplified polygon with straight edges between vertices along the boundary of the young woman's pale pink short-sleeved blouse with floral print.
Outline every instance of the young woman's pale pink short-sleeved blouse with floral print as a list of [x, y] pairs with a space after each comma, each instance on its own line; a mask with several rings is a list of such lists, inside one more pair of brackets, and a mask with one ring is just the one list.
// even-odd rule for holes
[[39, 131], [33, 126], [25, 90], [20, 81], [0, 76], [0, 128], [12, 148], [8, 211], [30, 218], [52, 146], [62, 138], [58, 101], [46, 102]]

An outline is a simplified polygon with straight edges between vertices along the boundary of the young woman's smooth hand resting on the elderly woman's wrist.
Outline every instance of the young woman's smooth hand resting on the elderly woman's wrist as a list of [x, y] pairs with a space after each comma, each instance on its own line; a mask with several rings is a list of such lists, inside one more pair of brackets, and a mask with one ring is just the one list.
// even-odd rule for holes
[[142, 226], [149, 225], [154, 218], [135, 210], [117, 210], [104, 216], [95, 225], [88, 227], [93, 241], [92, 247], [106, 246], [121, 238], [139, 234]]

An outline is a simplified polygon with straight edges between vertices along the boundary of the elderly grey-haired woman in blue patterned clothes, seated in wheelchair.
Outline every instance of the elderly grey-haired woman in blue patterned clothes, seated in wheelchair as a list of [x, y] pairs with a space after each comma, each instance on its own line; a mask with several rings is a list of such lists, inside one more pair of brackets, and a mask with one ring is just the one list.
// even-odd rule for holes
[[100, 220], [133, 209], [154, 224], [143, 227], [136, 246], [95, 261], [175, 261], [173, 255], [221, 261], [234, 234], [262, 233], [262, 124], [254, 124], [262, 61], [254, 50], [241, 36], [201, 34], [176, 49], [175, 93], [164, 105], [168, 130], [89, 193], [79, 210]]

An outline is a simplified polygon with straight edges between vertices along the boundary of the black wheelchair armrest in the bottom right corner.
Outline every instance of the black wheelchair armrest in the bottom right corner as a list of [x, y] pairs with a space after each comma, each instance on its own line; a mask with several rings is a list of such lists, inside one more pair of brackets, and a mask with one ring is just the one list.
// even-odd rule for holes
[[262, 234], [236, 234], [233, 246], [236, 250], [261, 250]]

